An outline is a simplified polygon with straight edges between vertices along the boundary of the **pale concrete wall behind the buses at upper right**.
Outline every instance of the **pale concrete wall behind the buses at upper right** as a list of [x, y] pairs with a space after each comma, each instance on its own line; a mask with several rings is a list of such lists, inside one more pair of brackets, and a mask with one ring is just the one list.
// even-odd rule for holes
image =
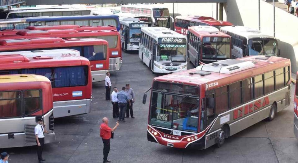
[[[235, 25], [259, 28], [258, 0], [228, 0], [224, 6], [227, 20]], [[261, 31], [273, 36], [273, 6], [260, 1]], [[298, 18], [275, 7], [275, 37], [281, 57], [291, 59], [292, 71], [298, 71]]]

